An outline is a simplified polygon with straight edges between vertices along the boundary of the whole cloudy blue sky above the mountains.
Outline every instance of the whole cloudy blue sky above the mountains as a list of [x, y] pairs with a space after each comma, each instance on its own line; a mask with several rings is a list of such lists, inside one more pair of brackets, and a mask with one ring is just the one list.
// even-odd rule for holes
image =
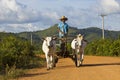
[[0, 31], [23, 32], [46, 29], [63, 15], [77, 28], [120, 31], [120, 0], [0, 0]]

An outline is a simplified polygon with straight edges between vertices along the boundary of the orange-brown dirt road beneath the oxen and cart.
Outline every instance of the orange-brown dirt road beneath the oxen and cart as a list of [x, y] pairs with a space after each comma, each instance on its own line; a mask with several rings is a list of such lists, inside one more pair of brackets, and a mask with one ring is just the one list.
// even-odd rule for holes
[[62, 58], [55, 69], [32, 69], [18, 80], [120, 80], [120, 57], [85, 56], [79, 68], [70, 58]]

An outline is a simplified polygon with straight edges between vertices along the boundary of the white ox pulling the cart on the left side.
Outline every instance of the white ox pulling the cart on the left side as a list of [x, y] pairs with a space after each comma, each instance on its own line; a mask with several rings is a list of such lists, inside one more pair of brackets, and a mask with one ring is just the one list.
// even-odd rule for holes
[[55, 67], [54, 54], [56, 51], [56, 38], [54, 37], [44, 38], [42, 50], [45, 53], [47, 70], [52, 69], [53, 67]]

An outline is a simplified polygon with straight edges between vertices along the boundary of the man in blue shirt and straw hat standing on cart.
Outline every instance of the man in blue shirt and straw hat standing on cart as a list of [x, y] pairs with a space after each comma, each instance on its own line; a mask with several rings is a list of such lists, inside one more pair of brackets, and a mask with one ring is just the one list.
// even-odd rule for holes
[[61, 53], [63, 53], [62, 56], [64, 56], [65, 52], [67, 51], [67, 35], [68, 35], [68, 29], [69, 29], [69, 26], [66, 23], [67, 20], [68, 20], [67, 17], [62, 16], [60, 18], [61, 22], [58, 24], [58, 32], [59, 32], [59, 38], [60, 38], [59, 44], [60, 44]]

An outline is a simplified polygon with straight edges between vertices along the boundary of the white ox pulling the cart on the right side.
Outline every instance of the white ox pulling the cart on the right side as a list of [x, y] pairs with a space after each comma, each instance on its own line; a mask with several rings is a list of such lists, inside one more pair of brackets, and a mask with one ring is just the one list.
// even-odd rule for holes
[[79, 67], [82, 65], [84, 59], [84, 49], [87, 41], [83, 39], [81, 34], [78, 34], [75, 39], [71, 42], [71, 47], [73, 51], [73, 56], [75, 58], [75, 65]]

